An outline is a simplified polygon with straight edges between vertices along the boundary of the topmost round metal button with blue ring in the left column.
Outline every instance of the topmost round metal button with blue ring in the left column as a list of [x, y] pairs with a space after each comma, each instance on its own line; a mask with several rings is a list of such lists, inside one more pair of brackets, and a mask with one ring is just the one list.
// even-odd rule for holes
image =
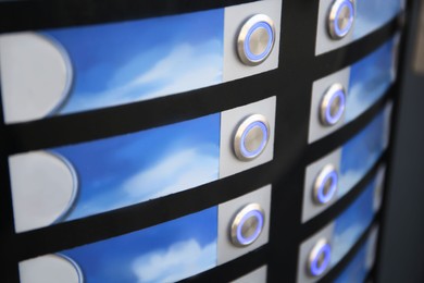
[[264, 14], [250, 17], [241, 27], [237, 51], [246, 65], [259, 65], [271, 54], [275, 42], [274, 22]]

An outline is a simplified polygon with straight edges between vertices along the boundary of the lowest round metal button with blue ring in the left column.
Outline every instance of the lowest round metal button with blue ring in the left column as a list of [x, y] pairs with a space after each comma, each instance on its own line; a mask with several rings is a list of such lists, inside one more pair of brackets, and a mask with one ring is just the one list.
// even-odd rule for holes
[[233, 245], [245, 247], [252, 244], [261, 235], [265, 222], [265, 213], [259, 204], [244, 207], [234, 218], [230, 226]]

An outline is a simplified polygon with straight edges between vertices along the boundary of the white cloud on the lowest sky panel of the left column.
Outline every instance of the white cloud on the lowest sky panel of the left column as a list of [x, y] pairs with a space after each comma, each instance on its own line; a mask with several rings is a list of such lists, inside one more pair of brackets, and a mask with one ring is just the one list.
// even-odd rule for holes
[[138, 257], [132, 269], [138, 282], [175, 282], [215, 266], [216, 242], [202, 247], [191, 238]]

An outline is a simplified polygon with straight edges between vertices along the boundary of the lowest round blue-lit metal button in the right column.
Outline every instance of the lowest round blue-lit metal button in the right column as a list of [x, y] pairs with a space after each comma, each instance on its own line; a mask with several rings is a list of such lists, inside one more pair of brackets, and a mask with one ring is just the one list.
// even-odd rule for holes
[[321, 238], [309, 254], [308, 273], [314, 278], [322, 275], [329, 266], [331, 256], [332, 246], [325, 238]]

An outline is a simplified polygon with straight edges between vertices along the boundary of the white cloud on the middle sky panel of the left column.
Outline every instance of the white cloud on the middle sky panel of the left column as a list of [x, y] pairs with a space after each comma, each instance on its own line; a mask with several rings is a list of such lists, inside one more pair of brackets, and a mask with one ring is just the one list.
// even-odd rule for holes
[[202, 145], [165, 156], [157, 164], [147, 170], [141, 169], [116, 188], [80, 202], [68, 219], [139, 204], [215, 181], [219, 176], [217, 152], [216, 146]]

